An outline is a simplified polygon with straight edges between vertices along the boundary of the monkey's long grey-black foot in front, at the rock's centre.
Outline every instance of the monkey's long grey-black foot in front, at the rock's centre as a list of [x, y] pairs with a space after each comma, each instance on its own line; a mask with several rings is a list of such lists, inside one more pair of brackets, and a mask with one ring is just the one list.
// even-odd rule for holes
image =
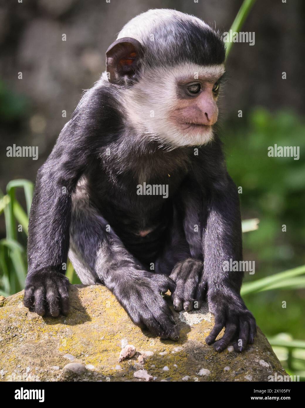
[[124, 307], [131, 320], [142, 328], [148, 328], [162, 339], [179, 339], [172, 312], [163, 293], [175, 290], [175, 282], [166, 275], [139, 271], [140, 274], [122, 282], [113, 289], [114, 295]]

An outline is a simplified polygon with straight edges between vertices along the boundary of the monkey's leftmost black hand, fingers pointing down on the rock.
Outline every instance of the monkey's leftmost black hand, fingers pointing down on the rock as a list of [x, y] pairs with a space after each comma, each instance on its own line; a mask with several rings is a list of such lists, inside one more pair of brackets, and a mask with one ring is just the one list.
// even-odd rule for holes
[[57, 317], [69, 310], [69, 280], [62, 273], [42, 270], [25, 281], [23, 304], [40, 316]]

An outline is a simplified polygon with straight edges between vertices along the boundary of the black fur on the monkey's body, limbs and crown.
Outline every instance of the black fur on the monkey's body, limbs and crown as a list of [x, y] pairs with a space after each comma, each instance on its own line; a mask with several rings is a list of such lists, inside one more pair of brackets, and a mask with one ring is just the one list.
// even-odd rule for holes
[[[171, 49], [166, 39], [161, 51], [144, 44], [151, 63], [163, 63], [160, 52], [175, 55], [172, 64], [223, 62], [218, 35], [177, 21], [173, 28]], [[171, 290], [176, 310], [190, 310], [195, 300], [200, 306], [207, 296], [216, 322], [207, 343], [225, 326], [215, 349], [234, 340], [241, 351], [256, 328], [239, 294], [243, 273], [222, 268], [223, 261], [242, 259], [242, 243], [239, 197], [219, 137], [199, 147], [199, 155], [193, 147], [168, 151], [156, 142], [137, 143], [121, 92], [124, 87], [105, 80], [87, 91], [38, 171], [24, 304], [40, 315], [67, 313], [62, 264], [70, 245], [88, 273], [84, 282], [105, 284], [136, 324], [177, 339], [161, 292]], [[146, 183], [168, 184], [169, 197], [137, 195], [142, 174]], [[153, 231], [147, 236], [137, 235], [148, 228]]]

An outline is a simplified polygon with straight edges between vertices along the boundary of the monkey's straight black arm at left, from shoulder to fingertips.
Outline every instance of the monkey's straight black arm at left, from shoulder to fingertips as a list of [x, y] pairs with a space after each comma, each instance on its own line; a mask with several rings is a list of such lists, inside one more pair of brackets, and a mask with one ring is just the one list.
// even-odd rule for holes
[[90, 117], [88, 102], [96, 92], [91, 89], [83, 97], [38, 171], [29, 220], [24, 305], [39, 315], [57, 316], [68, 310], [69, 282], [64, 266], [69, 249], [71, 193], [96, 140], [96, 122]]

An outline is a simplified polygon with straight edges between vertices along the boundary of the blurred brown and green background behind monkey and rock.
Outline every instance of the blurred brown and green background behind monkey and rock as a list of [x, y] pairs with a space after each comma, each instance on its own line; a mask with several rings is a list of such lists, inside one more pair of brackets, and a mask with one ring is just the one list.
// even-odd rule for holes
[[[253, 3], [241, 31], [254, 31], [255, 45], [232, 44], [226, 63], [221, 137], [229, 172], [242, 187], [242, 218], [259, 220], [256, 230], [256, 221], [244, 224], [244, 230], [252, 230], [243, 235], [244, 259], [255, 261], [255, 274], [245, 274], [243, 297], [288, 373], [304, 380], [305, 2]], [[241, 4], [15, 0], [0, 6], [0, 296], [23, 288], [37, 170], [83, 90], [104, 71], [105, 51], [122, 26], [150, 8], [175, 8], [229, 31]], [[38, 146], [38, 160], [7, 157], [13, 144]], [[274, 144], [299, 146], [299, 160], [268, 157]], [[78, 282], [71, 265], [67, 273]]]

